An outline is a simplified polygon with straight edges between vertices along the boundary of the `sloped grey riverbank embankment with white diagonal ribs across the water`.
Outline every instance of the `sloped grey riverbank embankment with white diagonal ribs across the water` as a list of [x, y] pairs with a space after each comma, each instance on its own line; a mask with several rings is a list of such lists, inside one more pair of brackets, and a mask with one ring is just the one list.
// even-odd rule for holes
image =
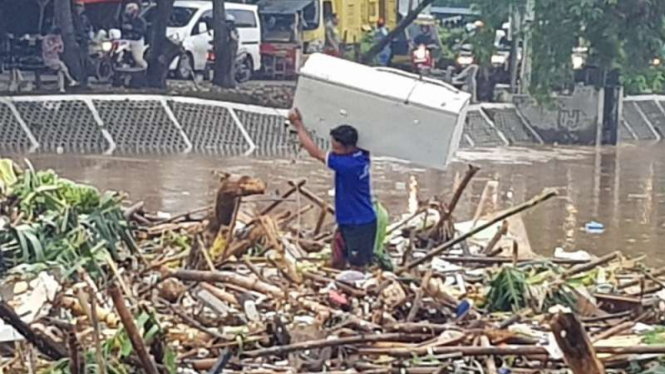
[[[530, 98], [471, 105], [460, 147], [595, 144], [598, 91], [542, 107]], [[659, 141], [665, 96], [626, 97], [620, 141]], [[596, 109], [594, 109], [596, 108]], [[298, 148], [285, 110], [160, 95], [0, 97], [0, 151], [286, 155]], [[322, 146], [325, 140], [319, 139]]]

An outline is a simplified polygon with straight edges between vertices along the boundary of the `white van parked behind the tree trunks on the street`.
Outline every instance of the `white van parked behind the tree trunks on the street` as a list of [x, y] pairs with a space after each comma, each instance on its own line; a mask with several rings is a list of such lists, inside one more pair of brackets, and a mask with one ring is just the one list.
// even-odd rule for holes
[[[225, 3], [227, 15], [235, 18], [235, 24], [240, 36], [238, 55], [246, 54], [244, 63], [248, 64], [250, 71], [261, 69], [261, 24], [259, 23], [258, 7], [256, 5]], [[156, 15], [156, 8], [145, 9], [143, 16], [148, 24]], [[178, 78], [188, 78], [190, 69], [203, 71], [206, 66], [210, 42], [213, 40], [212, 1], [203, 0], [176, 0], [173, 4], [173, 13], [166, 29], [166, 35], [182, 42], [187, 55], [176, 58], [171, 70]]]

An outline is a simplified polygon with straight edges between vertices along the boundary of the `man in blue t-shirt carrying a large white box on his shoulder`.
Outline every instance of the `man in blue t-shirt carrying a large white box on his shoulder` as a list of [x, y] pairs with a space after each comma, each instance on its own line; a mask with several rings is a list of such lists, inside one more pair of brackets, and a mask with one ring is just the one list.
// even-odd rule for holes
[[377, 215], [372, 204], [369, 152], [357, 147], [358, 132], [349, 125], [330, 131], [332, 151], [322, 151], [307, 133], [297, 109], [289, 121], [310, 156], [335, 172], [335, 218], [344, 245], [342, 255], [352, 268], [364, 269], [372, 263]]

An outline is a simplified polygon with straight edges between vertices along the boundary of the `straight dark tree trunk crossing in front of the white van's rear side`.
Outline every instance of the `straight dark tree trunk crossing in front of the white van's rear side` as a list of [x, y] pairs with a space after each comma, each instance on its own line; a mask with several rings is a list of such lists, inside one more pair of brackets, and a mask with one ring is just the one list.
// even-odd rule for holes
[[226, 10], [224, 0], [212, 1], [214, 51], [215, 51], [215, 74], [212, 83], [224, 88], [235, 88], [233, 76], [231, 76], [231, 53], [229, 53], [228, 29], [226, 27]]

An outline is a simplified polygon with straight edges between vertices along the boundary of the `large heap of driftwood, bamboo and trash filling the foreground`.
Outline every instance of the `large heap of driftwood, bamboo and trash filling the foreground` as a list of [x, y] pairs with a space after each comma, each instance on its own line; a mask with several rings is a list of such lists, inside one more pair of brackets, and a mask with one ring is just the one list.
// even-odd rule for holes
[[662, 372], [665, 269], [528, 253], [512, 222], [554, 192], [455, 223], [476, 171], [360, 272], [330, 267], [334, 209], [302, 180], [261, 205], [223, 175], [212, 209], [163, 218], [0, 160], [0, 372]]

